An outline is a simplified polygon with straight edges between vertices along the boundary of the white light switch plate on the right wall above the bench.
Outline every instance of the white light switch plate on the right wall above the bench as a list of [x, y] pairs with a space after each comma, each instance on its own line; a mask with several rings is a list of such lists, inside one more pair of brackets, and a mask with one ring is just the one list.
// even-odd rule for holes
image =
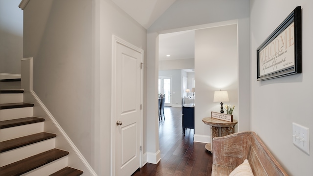
[[309, 128], [292, 122], [292, 142], [307, 154], [310, 154], [309, 139]]

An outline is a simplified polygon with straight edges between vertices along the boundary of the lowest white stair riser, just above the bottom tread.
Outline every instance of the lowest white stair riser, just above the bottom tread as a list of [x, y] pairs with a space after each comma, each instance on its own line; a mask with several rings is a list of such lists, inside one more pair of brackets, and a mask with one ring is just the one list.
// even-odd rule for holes
[[50, 174], [53, 174], [65, 167], [67, 167], [67, 156], [57, 159], [28, 173], [22, 174], [21, 176], [49, 176]]

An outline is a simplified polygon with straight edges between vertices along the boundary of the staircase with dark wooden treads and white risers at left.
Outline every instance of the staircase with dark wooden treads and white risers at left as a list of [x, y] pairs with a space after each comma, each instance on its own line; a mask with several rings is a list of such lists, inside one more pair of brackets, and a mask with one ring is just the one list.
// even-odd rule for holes
[[44, 132], [45, 119], [33, 117], [24, 91], [12, 89], [20, 81], [0, 80], [0, 176], [82, 175], [67, 166], [69, 152], [55, 148], [56, 134]]

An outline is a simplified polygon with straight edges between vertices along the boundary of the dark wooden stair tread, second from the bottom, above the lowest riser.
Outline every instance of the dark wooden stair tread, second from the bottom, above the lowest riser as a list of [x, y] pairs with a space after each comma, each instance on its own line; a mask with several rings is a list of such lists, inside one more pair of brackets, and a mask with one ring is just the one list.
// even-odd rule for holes
[[[20, 161], [0, 167], [1, 176], [20, 176], [26, 172], [39, 168], [68, 154], [67, 151], [52, 149], [36, 154]], [[27, 164], [25, 164], [27, 163]]]

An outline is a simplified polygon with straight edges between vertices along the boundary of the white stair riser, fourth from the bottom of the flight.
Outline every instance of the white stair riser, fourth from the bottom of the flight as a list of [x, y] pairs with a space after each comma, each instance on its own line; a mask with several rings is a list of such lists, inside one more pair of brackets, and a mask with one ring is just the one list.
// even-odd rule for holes
[[0, 110], [0, 121], [33, 116], [33, 107]]

